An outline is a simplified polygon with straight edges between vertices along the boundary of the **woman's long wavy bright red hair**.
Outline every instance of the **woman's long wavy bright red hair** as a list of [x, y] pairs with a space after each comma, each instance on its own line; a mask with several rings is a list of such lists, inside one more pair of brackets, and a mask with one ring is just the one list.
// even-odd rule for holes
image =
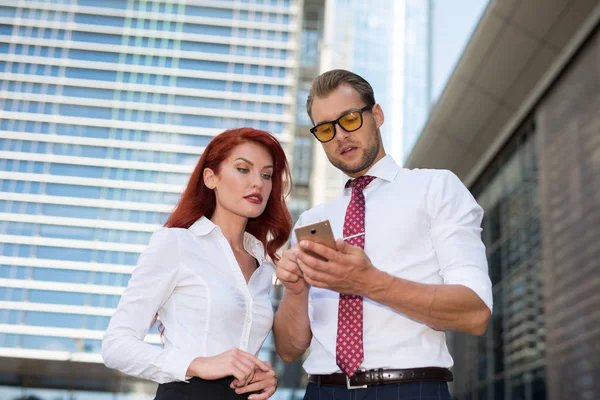
[[292, 217], [285, 198], [291, 188], [291, 176], [287, 158], [279, 141], [268, 132], [253, 128], [227, 130], [210, 141], [202, 153], [177, 207], [165, 223], [169, 228], [189, 228], [200, 217], [210, 218], [215, 211], [216, 198], [212, 189], [204, 184], [203, 172], [210, 168], [219, 173], [221, 164], [231, 151], [242, 143], [264, 146], [273, 157], [272, 189], [265, 211], [248, 220], [246, 232], [254, 235], [265, 246], [273, 261], [279, 257], [276, 251], [288, 240], [292, 231]]

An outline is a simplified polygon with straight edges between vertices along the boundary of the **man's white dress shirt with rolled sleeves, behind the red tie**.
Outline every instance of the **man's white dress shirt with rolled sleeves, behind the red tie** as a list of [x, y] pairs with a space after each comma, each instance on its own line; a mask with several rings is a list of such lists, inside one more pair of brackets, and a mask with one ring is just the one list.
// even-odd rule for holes
[[[393, 276], [426, 284], [464, 285], [492, 309], [483, 210], [450, 171], [400, 168], [385, 156], [366, 173], [377, 179], [363, 191], [365, 252], [373, 265]], [[330, 203], [304, 212], [297, 226], [329, 219], [342, 237], [351, 189]], [[295, 238], [294, 238], [295, 240]], [[304, 363], [309, 374], [340, 372], [335, 362], [339, 294], [310, 288], [313, 333]], [[362, 367], [419, 368], [453, 365], [444, 332], [364, 299]]]

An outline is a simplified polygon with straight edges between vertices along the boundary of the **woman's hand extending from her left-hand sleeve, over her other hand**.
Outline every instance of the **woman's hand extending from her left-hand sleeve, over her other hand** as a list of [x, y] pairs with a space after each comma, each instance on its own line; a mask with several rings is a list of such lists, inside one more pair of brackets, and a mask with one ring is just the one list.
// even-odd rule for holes
[[271, 367], [254, 355], [233, 348], [213, 357], [195, 358], [190, 363], [186, 376], [197, 376], [206, 380], [233, 376], [238, 386], [246, 386], [253, 381], [257, 372], [269, 371], [272, 371]]

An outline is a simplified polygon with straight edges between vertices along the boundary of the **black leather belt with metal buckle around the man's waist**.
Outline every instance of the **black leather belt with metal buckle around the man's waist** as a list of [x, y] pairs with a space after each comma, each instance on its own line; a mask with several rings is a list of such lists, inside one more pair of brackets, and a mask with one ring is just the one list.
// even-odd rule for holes
[[442, 381], [450, 382], [454, 378], [447, 368], [427, 367], [412, 369], [370, 369], [358, 370], [348, 379], [346, 374], [310, 375], [310, 383], [321, 385], [346, 386], [348, 389], [358, 389], [373, 385], [399, 382]]

